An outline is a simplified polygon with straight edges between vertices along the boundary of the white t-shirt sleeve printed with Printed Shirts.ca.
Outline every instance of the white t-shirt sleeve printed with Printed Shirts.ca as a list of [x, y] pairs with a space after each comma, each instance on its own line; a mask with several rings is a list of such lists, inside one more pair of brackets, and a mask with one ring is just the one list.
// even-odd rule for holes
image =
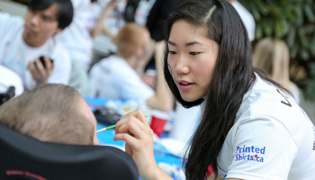
[[298, 146], [287, 128], [271, 117], [240, 123], [232, 139], [227, 178], [285, 180]]

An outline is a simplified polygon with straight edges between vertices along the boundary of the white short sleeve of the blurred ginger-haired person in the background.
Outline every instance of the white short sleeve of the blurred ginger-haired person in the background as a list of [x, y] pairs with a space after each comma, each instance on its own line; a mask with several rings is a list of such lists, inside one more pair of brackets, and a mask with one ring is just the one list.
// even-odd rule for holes
[[129, 71], [122, 71], [117, 74], [116, 87], [119, 87], [119, 93], [123, 99], [136, 99], [146, 101], [154, 95], [154, 90], [143, 82], [139, 75]]

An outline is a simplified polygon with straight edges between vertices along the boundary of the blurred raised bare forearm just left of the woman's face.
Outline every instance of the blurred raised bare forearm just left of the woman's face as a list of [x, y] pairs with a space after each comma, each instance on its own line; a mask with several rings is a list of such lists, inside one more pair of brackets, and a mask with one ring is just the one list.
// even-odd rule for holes
[[164, 79], [162, 60], [163, 49], [164, 42], [158, 42], [155, 52], [155, 65], [157, 70], [156, 93], [150, 97], [146, 103], [152, 108], [170, 111], [172, 110], [173, 98]]

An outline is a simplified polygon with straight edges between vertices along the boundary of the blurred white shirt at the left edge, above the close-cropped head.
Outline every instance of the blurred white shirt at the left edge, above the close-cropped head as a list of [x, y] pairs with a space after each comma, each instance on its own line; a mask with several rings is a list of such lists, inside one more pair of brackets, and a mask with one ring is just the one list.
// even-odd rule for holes
[[7, 92], [10, 86], [15, 87], [15, 96], [23, 93], [22, 79], [10, 69], [0, 65], [0, 93]]

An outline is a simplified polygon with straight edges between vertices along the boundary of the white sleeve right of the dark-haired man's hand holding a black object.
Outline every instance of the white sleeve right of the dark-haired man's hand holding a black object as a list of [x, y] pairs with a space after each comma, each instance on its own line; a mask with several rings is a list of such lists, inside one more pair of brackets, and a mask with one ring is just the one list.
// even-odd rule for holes
[[72, 61], [69, 52], [61, 44], [59, 44], [58, 48], [60, 48], [59, 51], [51, 57], [54, 60], [54, 70], [48, 82], [68, 85]]

